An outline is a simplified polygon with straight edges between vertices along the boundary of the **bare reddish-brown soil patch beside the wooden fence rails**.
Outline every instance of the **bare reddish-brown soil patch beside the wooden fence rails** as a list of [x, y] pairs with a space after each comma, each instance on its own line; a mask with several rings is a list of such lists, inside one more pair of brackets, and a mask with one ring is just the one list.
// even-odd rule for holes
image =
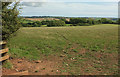
[[[61, 59], [62, 60], [62, 59]], [[68, 75], [61, 73], [59, 65], [61, 60], [57, 58], [51, 60], [28, 61], [26, 59], [11, 59], [12, 69], [2, 69], [3, 75]], [[59, 66], [59, 67], [58, 67]], [[22, 73], [23, 72], [23, 73]]]

